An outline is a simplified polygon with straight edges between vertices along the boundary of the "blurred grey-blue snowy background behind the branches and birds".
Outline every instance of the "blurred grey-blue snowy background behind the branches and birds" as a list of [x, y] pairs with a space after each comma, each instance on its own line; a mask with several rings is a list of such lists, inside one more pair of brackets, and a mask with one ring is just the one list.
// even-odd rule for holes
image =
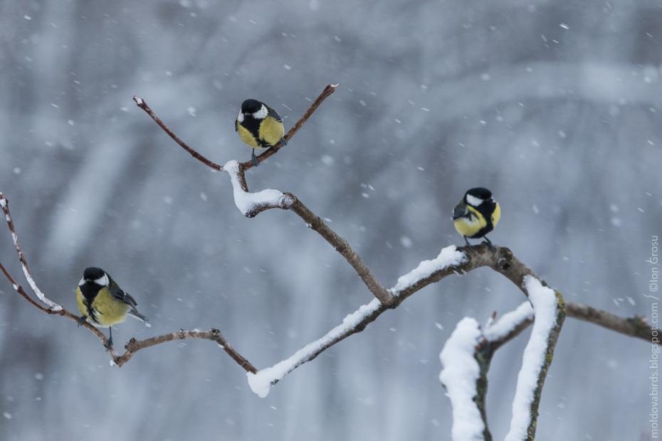
[[[218, 327], [258, 368], [371, 294], [287, 211], [246, 219], [226, 174], [191, 159], [140, 95], [217, 162], [246, 160], [241, 101], [290, 127], [248, 174], [298, 195], [384, 285], [449, 244], [471, 186], [503, 207], [490, 236], [572, 302], [650, 314], [662, 234], [660, 1], [0, 1], [0, 190], [42, 289], [75, 308], [104, 267], [152, 320], [118, 346]], [[0, 225], [0, 259], [26, 286]], [[522, 294], [477, 270], [431, 285], [281, 381], [266, 399], [209, 341], [111, 368], [98, 339], [0, 280], [2, 440], [444, 440], [438, 353], [465, 315]], [[488, 415], [505, 435], [525, 333], [498, 351]], [[540, 440], [648, 439], [650, 346], [567, 319]], [[4, 416], [3, 416], [4, 415]]]

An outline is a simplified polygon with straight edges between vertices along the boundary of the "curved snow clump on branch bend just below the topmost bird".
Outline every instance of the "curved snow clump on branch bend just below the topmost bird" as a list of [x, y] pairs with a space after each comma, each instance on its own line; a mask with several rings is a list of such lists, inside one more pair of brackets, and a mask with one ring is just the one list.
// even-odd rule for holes
[[282, 208], [287, 210], [292, 206], [296, 198], [290, 193], [282, 193], [272, 188], [250, 193], [245, 191], [245, 185], [242, 185], [243, 176], [239, 174], [239, 163], [237, 161], [228, 161], [223, 166], [224, 171], [230, 175], [234, 203], [241, 211], [243, 216], [253, 218], [269, 208]]

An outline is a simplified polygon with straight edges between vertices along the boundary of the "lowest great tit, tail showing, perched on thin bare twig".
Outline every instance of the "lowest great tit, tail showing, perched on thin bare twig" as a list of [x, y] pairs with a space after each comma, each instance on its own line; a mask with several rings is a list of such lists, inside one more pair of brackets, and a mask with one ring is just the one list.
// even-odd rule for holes
[[98, 267], [85, 268], [83, 278], [76, 287], [76, 304], [82, 317], [78, 326], [89, 320], [95, 326], [107, 326], [107, 349], [112, 347], [112, 325], [124, 322], [127, 314], [147, 322], [147, 317], [136, 309], [136, 301], [117, 286], [107, 272]]

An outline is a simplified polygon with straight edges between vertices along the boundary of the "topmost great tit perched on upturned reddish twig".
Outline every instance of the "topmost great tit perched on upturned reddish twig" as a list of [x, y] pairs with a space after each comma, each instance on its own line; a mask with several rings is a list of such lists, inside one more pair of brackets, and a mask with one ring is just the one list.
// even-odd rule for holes
[[283, 145], [288, 142], [283, 138], [285, 127], [283, 118], [278, 112], [258, 100], [246, 100], [241, 103], [241, 110], [234, 122], [234, 131], [239, 138], [253, 149], [251, 159], [253, 164], [258, 165], [255, 149], [268, 149], [280, 142]]

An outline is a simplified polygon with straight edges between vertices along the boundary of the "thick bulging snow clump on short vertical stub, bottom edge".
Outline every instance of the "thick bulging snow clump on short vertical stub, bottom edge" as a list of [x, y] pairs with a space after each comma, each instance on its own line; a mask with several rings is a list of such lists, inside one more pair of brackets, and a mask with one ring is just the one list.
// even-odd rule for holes
[[475, 319], [465, 317], [443, 345], [439, 381], [453, 406], [453, 441], [485, 440], [485, 423], [476, 403], [480, 365], [476, 346], [483, 333]]

